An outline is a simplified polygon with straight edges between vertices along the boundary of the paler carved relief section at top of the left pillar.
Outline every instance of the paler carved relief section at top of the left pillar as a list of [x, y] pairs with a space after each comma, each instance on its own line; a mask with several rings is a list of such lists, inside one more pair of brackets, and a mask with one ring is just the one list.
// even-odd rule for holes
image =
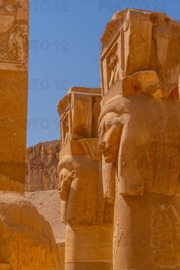
[[[26, 70], [28, 65], [28, 22], [21, 19], [20, 0], [0, 1], [0, 61], [3, 68]], [[16, 65], [13, 65], [16, 64]]]

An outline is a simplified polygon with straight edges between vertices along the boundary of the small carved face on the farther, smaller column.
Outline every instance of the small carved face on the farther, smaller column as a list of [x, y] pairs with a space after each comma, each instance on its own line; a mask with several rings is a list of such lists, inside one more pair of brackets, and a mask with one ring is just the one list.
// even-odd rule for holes
[[66, 202], [68, 201], [71, 184], [73, 179], [75, 178], [75, 175], [75, 170], [69, 172], [67, 169], [64, 168], [60, 171], [58, 190], [61, 200]]

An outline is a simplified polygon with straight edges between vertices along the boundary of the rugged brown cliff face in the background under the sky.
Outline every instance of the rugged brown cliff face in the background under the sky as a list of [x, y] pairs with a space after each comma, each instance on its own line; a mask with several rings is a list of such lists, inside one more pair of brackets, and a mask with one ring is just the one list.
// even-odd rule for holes
[[60, 140], [31, 146], [26, 150], [26, 190], [57, 189]]

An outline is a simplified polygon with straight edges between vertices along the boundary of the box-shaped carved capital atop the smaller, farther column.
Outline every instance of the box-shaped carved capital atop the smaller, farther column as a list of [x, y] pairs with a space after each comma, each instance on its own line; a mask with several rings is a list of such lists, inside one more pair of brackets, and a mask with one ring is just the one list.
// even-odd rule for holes
[[[97, 93], [93, 93], [93, 90]], [[100, 100], [99, 88], [69, 89], [67, 95], [58, 104], [61, 147], [70, 140], [98, 137], [97, 115], [100, 113]], [[96, 121], [92, 125], [94, 120]]]

